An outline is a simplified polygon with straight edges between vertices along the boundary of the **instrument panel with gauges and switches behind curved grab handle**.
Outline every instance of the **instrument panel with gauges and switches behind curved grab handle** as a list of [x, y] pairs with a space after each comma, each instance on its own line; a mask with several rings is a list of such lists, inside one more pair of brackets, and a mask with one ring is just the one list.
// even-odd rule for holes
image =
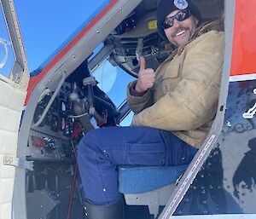
[[[75, 160], [71, 139], [79, 138], [78, 131], [75, 131], [75, 127], [78, 130], [79, 124], [70, 117], [72, 104], [69, 95], [72, 90], [73, 84], [65, 82], [43, 121], [30, 130], [28, 147], [31, 159], [67, 162]], [[33, 117], [34, 124], [42, 117], [53, 93], [49, 92], [38, 102]]]

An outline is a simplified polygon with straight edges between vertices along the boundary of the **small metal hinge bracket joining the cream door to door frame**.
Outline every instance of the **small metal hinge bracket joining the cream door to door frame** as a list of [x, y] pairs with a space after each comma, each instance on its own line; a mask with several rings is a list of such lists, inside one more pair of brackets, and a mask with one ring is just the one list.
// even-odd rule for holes
[[20, 159], [10, 156], [4, 156], [3, 157], [3, 164], [4, 165], [11, 165], [18, 167], [20, 169], [26, 169], [26, 170], [34, 170], [34, 162], [33, 161], [27, 161], [26, 159]]

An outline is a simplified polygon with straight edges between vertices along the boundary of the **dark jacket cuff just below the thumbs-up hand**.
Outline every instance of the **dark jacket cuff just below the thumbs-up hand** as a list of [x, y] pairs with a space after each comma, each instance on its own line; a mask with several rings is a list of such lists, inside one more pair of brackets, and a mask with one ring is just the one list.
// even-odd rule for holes
[[131, 95], [131, 86], [134, 82], [128, 84], [126, 89], [127, 102], [131, 110], [135, 113], [143, 111], [143, 109], [152, 106], [153, 97], [151, 89], [148, 89], [147, 92], [142, 96]]

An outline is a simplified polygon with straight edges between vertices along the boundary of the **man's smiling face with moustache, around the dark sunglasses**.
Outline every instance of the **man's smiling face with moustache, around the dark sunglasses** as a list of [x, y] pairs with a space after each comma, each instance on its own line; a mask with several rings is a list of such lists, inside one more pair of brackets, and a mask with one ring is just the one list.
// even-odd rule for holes
[[[172, 17], [173, 15], [177, 14], [177, 12], [179, 12], [179, 10], [172, 11], [166, 17]], [[177, 21], [174, 19], [173, 26], [165, 29], [166, 37], [172, 44], [179, 47], [184, 43], [189, 42], [189, 38], [195, 32], [197, 24], [198, 20], [193, 14], [191, 14], [188, 19], [183, 21]]]

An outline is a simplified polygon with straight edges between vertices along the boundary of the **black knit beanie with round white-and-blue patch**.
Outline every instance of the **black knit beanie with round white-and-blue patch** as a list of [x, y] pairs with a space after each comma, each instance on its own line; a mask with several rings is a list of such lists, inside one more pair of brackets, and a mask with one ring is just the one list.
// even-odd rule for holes
[[199, 24], [201, 23], [201, 13], [200, 10], [196, 8], [194, 3], [190, 0], [158, 0], [157, 3], [157, 28], [160, 33], [160, 37], [166, 38], [166, 33], [162, 27], [163, 21], [166, 16], [174, 10], [189, 9], [191, 14], [195, 15]]

